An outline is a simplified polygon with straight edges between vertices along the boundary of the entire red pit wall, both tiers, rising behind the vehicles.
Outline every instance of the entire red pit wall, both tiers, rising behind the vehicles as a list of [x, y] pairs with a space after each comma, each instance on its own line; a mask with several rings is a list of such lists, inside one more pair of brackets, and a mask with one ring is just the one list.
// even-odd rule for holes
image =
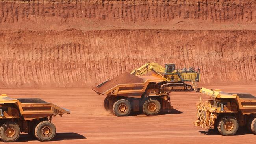
[[0, 87], [91, 87], [146, 62], [256, 84], [255, 0], [0, 0]]

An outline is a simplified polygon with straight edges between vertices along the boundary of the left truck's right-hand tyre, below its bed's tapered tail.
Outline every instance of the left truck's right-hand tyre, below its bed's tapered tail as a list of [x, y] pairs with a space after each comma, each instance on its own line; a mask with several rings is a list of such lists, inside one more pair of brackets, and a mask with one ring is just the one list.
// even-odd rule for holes
[[35, 127], [35, 137], [41, 142], [50, 141], [56, 135], [56, 127], [50, 121], [42, 121]]

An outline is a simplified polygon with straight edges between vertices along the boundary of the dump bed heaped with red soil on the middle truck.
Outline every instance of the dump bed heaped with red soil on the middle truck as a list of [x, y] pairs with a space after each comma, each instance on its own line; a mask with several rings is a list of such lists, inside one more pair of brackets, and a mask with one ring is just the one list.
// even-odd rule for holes
[[166, 79], [157, 74], [149, 76], [134, 76], [129, 73], [123, 73], [111, 80], [100, 83], [92, 88], [98, 94], [119, 95], [140, 97], [146, 90], [150, 82], [162, 82]]

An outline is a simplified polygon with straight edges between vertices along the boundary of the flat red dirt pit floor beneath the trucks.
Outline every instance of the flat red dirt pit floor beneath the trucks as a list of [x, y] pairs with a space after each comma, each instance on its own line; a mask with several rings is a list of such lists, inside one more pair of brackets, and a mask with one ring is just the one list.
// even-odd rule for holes
[[[253, 86], [214, 86], [225, 92], [250, 92], [256, 96]], [[55, 141], [46, 143], [69, 144], [187, 144], [187, 143], [254, 143], [255, 135], [239, 128], [235, 136], [194, 128], [195, 103], [199, 94], [195, 92], [172, 92], [171, 102], [175, 110], [169, 114], [145, 116], [133, 114], [128, 117], [113, 116], [104, 110], [105, 96], [91, 89], [0, 89], [1, 94], [12, 98], [42, 98], [61, 107], [70, 109], [71, 114], [53, 118], [57, 128]], [[203, 96], [203, 95], [202, 95]], [[208, 96], [203, 96], [207, 100]], [[21, 143], [41, 143], [27, 134], [22, 134]]]

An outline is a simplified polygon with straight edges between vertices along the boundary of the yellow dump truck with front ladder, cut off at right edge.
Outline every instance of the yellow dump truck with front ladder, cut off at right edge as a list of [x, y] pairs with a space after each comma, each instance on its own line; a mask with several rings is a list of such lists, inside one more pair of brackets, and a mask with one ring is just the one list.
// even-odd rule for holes
[[256, 97], [252, 94], [225, 93], [202, 88], [202, 94], [210, 96], [208, 101], [196, 104], [197, 120], [195, 127], [200, 126], [208, 131], [218, 129], [221, 135], [235, 135], [239, 127], [247, 127], [256, 134]]

